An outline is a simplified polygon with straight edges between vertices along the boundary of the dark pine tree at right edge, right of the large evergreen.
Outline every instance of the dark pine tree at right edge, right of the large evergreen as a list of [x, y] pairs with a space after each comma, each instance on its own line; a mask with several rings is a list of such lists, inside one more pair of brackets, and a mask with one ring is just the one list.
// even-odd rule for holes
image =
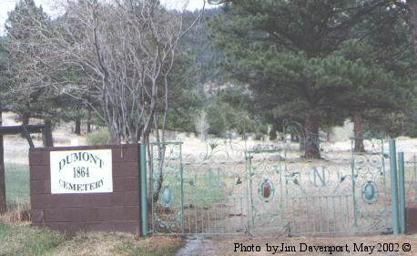
[[[353, 38], [345, 55], [351, 60], [361, 60], [367, 67], [379, 68], [377, 78], [361, 87], [353, 98], [356, 108], [351, 108], [355, 130], [361, 126], [379, 131], [382, 135], [396, 136], [404, 132], [401, 117], [412, 107], [410, 99], [415, 94], [415, 57], [412, 54], [412, 38], [409, 19], [398, 5], [381, 7], [368, 15], [361, 26], [353, 31]], [[346, 51], [347, 50], [347, 51]], [[415, 104], [415, 103], [414, 103]], [[410, 115], [409, 115], [410, 116]], [[356, 141], [358, 142], [358, 140]], [[358, 143], [356, 146], [358, 146]], [[357, 148], [356, 149], [360, 149]]]

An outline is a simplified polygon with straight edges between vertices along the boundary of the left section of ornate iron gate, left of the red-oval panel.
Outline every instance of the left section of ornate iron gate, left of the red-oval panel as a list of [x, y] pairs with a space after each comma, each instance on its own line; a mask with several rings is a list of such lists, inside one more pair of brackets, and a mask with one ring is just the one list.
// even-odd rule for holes
[[[248, 195], [244, 143], [212, 139], [204, 148], [150, 145], [153, 233], [245, 233]], [[185, 151], [185, 152], [184, 152]]]

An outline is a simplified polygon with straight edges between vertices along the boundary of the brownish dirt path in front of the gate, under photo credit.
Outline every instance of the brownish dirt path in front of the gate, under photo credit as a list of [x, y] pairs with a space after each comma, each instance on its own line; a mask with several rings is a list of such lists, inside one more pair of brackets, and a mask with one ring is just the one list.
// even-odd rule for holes
[[417, 255], [417, 235], [190, 237], [176, 255]]

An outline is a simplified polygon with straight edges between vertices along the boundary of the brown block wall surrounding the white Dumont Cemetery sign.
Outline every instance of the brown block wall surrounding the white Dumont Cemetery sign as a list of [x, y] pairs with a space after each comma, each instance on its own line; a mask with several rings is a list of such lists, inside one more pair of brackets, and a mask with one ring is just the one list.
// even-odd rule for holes
[[[113, 192], [51, 194], [50, 151], [111, 149]], [[140, 232], [137, 145], [31, 148], [32, 223], [74, 234], [77, 231]]]

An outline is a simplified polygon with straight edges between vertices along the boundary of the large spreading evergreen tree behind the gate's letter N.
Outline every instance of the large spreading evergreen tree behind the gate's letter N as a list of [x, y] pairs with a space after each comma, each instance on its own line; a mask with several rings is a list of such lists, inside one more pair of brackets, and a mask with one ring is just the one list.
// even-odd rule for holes
[[281, 116], [303, 120], [305, 157], [320, 158], [319, 128], [340, 124], [341, 100], [371, 74], [361, 62], [335, 56], [351, 30], [381, 1], [228, 3], [213, 22], [223, 67], [257, 91]]

